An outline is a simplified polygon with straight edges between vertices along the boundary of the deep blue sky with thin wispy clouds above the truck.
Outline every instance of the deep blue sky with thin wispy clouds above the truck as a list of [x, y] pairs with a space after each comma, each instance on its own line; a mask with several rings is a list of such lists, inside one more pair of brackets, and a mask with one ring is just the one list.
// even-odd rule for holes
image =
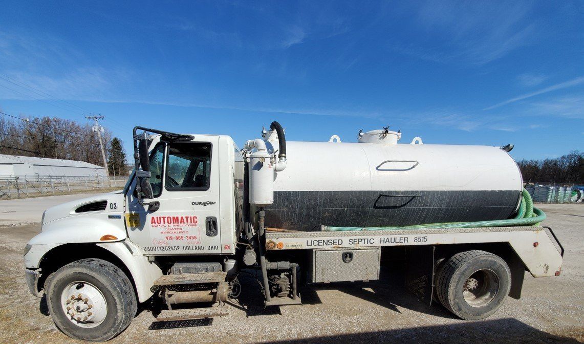
[[3, 1], [1, 76], [79, 107], [4, 78], [0, 109], [100, 113], [127, 147], [135, 125], [242, 145], [278, 120], [557, 157], [584, 150], [583, 4]]

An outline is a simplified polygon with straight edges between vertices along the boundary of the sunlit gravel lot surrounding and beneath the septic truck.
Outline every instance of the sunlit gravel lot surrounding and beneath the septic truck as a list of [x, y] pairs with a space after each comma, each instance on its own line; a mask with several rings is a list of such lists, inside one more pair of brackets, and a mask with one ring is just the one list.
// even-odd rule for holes
[[[0, 201], [0, 220], [2, 211], [7, 209], [3, 202]], [[41, 203], [45, 206], [47, 202]], [[16, 206], [13, 217], [18, 216], [18, 211], [38, 212], [31, 209], [32, 203]], [[142, 311], [110, 343], [582, 342], [584, 204], [539, 207], [548, 214], [545, 225], [554, 229], [566, 249], [562, 274], [540, 279], [526, 274], [522, 299], [507, 298], [495, 315], [483, 321], [463, 321], [436, 304], [430, 307], [421, 303], [404, 290], [394, 272], [384, 267], [379, 281], [308, 287], [303, 291], [304, 305], [276, 310], [263, 310], [256, 282], [248, 277], [243, 282], [244, 289], [248, 289], [248, 297], [242, 300], [245, 307], [230, 305], [227, 317], [178, 322], [172, 324], [177, 328], [158, 329], [160, 323], [149, 311]], [[30, 220], [15, 219], [15, 223], [23, 222]], [[44, 298], [34, 298], [27, 290], [22, 249], [37, 232], [38, 224], [0, 227], [0, 248], [4, 253], [0, 256], [0, 342], [76, 342], [55, 328]]]

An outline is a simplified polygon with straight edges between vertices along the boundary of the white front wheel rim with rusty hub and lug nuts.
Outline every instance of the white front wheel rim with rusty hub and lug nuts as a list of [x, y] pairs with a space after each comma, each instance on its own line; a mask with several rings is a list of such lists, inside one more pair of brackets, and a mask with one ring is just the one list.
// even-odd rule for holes
[[83, 328], [98, 326], [107, 316], [106, 298], [88, 282], [69, 283], [61, 293], [61, 306], [65, 317]]

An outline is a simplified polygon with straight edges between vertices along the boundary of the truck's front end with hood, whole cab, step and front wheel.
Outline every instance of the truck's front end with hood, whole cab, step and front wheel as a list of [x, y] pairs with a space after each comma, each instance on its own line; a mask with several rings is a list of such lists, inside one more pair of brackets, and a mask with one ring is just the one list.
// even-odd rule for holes
[[[106, 323], [112, 315], [118, 313], [114, 328], [127, 326], [137, 304], [157, 293], [172, 311], [171, 304], [225, 301], [234, 285], [234, 279], [225, 282], [224, 263], [234, 264], [243, 226], [241, 151], [227, 135], [161, 132], [141, 138], [135, 143], [147, 150], [123, 190], [47, 209], [40, 234], [26, 245], [30, 291], [47, 294], [55, 324], [73, 338], [111, 338], [112, 324]], [[140, 161], [137, 149], [135, 154]], [[206, 277], [192, 283], [199, 294], [168, 287], [184, 281], [159, 281], [173, 267]], [[65, 272], [83, 282], [65, 283]], [[131, 317], [120, 315], [128, 306]], [[220, 308], [208, 313], [221, 315]]]

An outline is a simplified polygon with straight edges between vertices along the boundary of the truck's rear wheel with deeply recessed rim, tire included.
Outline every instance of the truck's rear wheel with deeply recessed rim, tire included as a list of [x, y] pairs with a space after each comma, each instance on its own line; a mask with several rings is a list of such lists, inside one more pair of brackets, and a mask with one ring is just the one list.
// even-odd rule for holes
[[459, 318], [489, 317], [505, 302], [511, 272], [505, 260], [485, 251], [457, 253], [439, 269], [436, 295]]

